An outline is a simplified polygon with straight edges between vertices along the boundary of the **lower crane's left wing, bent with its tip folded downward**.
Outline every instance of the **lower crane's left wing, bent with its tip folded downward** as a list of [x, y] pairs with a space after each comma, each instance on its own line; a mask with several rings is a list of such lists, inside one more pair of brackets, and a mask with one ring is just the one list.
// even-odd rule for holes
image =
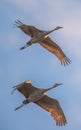
[[29, 95], [31, 95], [31, 93], [33, 93], [34, 91], [38, 90], [38, 88], [35, 88], [34, 86], [32, 86], [31, 83], [27, 83], [27, 82], [23, 82], [17, 86], [13, 87], [13, 92], [17, 89], [22, 95], [24, 95], [26, 98], [29, 97]]

